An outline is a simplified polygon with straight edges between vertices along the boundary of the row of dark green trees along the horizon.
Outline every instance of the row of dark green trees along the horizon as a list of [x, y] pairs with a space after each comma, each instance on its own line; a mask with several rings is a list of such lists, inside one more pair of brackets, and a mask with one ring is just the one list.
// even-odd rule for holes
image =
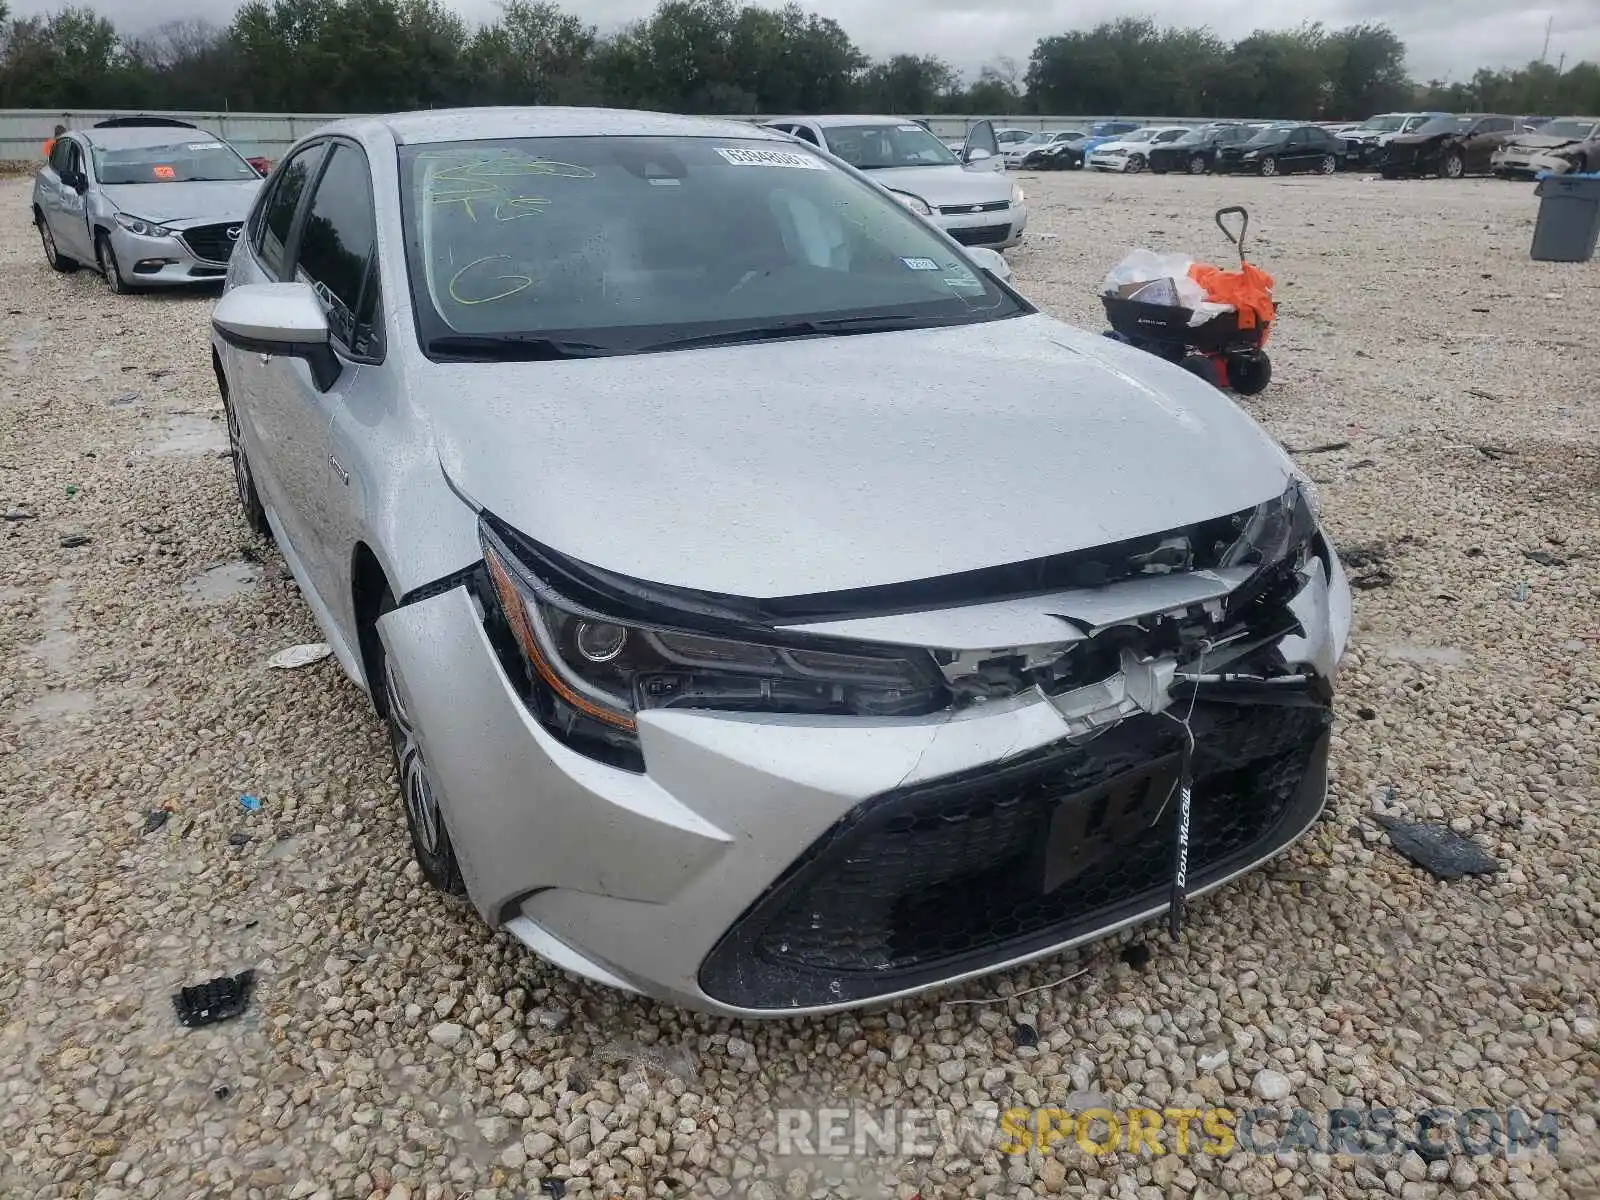
[[250, 0], [227, 26], [118, 30], [93, 8], [11, 18], [0, 107], [386, 112], [606, 104], [698, 114], [1146, 114], [1363, 118], [1394, 109], [1600, 112], [1600, 66], [1531, 62], [1418, 85], [1381, 24], [1258, 30], [1123, 18], [1040, 38], [976, 78], [925, 54], [870, 59], [837, 21], [736, 0], [662, 0], [610, 35], [550, 0], [469, 26], [442, 0]]

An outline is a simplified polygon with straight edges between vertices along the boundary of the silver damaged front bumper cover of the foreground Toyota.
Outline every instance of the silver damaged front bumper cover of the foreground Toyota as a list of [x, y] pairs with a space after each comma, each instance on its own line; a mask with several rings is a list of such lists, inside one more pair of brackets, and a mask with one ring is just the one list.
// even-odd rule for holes
[[[1350, 592], [1317, 539], [1270, 645], [1144, 654], [1138, 614], [1200, 611], [1240, 576], [869, 618], [878, 642], [1117, 638], [1085, 686], [918, 717], [659, 709], [643, 771], [536, 720], [458, 587], [379, 624], [474, 904], [565, 970], [704, 1011], [792, 1016], [883, 1002], [1101, 938], [1166, 910], [1171, 782], [1194, 736], [1189, 894], [1315, 821]], [[826, 629], [824, 629], [826, 626]], [[822, 622], [840, 635], [858, 622]], [[1120, 632], [1118, 632], [1120, 630]], [[1270, 659], [1274, 670], [1261, 674]]]

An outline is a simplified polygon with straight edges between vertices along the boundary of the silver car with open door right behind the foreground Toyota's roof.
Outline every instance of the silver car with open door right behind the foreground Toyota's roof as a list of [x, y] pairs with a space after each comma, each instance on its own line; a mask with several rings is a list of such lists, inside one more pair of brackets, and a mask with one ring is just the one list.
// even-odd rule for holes
[[1022, 240], [1027, 197], [1005, 174], [989, 122], [973, 126], [962, 155], [902, 117], [778, 117], [766, 128], [866, 171], [963, 245], [1006, 250]]

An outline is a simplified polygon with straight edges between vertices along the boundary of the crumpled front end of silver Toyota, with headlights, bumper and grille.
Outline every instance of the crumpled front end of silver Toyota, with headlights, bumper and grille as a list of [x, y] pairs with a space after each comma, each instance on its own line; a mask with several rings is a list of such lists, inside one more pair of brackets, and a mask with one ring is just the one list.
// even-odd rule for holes
[[[626, 736], [586, 741], [578, 691], [538, 694], [504, 566], [381, 622], [474, 902], [610, 986], [746, 1016], [883, 1002], [1181, 909], [1323, 805], [1350, 592], [1298, 485], [1061, 562], [742, 608], [501, 533], [490, 557], [554, 589], [590, 658], [621, 661], [603, 611], [698, 664], [645, 669]], [[733, 640], [648, 634], [698, 621], [787, 666], [739, 688]], [[856, 686], [867, 651], [918, 674]]]

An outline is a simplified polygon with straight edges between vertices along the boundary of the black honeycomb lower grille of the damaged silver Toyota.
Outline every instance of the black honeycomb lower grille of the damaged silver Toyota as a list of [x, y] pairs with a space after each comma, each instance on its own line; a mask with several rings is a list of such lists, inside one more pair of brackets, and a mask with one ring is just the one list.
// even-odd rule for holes
[[[1309, 693], [1195, 707], [1190, 890], [1310, 822], [1330, 718]], [[858, 805], [722, 938], [701, 987], [742, 1008], [859, 1002], [1160, 907], [1173, 874], [1168, 781], [1182, 736], [1170, 717], [1141, 715], [1090, 742]], [[1154, 800], [1139, 790], [1141, 768], [1160, 781]]]

